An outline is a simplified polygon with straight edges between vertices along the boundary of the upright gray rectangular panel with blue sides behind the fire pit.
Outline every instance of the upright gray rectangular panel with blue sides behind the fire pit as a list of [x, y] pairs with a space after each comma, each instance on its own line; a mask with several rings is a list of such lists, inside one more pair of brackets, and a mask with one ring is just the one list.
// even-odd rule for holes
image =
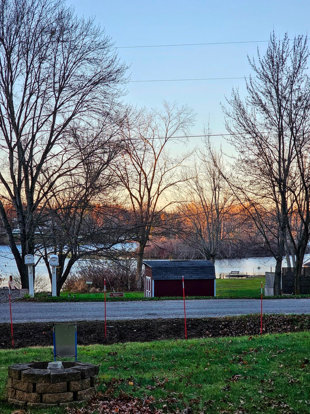
[[76, 323], [57, 323], [53, 327], [54, 359], [77, 357]]

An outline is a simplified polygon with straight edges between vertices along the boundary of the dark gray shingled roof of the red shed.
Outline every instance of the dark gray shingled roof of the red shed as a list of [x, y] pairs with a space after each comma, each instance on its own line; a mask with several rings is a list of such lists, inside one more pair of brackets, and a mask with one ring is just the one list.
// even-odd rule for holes
[[210, 260], [143, 260], [152, 268], [152, 278], [215, 279], [215, 267]]

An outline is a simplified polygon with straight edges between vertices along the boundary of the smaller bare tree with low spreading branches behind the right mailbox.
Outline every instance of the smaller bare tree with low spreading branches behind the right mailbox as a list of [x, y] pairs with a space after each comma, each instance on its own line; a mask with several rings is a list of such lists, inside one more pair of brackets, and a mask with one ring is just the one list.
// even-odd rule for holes
[[50, 280], [49, 255], [57, 254], [57, 296], [60, 294], [72, 266], [86, 258], [112, 258], [119, 255], [115, 245], [127, 240], [123, 215], [110, 195], [118, 183], [109, 168], [116, 162], [123, 147], [114, 122], [107, 122], [89, 131], [72, 131], [79, 148], [80, 163], [71, 176], [50, 188], [43, 207], [36, 235], [36, 255], [43, 258]]

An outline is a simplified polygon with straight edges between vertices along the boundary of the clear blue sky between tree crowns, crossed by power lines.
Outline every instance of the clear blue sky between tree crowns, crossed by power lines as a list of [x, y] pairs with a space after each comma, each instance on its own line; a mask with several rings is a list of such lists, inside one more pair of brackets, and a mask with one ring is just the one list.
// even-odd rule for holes
[[[309, 0], [67, 0], [78, 15], [93, 16], [130, 66], [131, 81], [240, 77], [241, 79], [176, 82], [129, 82], [124, 102], [147, 108], [163, 100], [187, 104], [196, 115], [192, 135], [201, 135], [210, 120], [212, 134], [225, 133], [221, 103], [239, 88], [246, 94], [244, 76], [250, 75], [248, 57], [264, 53], [270, 32], [279, 39], [307, 34]], [[200, 46], [126, 48], [188, 43], [231, 43]], [[212, 138], [216, 146], [222, 137]], [[199, 144], [191, 138], [191, 146]], [[224, 144], [225, 146], [225, 144]]]

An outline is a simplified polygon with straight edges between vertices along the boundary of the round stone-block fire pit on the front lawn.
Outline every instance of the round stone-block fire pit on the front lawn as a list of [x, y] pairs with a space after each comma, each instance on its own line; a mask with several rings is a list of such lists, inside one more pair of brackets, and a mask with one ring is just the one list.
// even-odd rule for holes
[[48, 362], [9, 366], [7, 397], [19, 407], [70, 407], [83, 404], [95, 391], [97, 365], [63, 362], [62, 369], [48, 370]]

